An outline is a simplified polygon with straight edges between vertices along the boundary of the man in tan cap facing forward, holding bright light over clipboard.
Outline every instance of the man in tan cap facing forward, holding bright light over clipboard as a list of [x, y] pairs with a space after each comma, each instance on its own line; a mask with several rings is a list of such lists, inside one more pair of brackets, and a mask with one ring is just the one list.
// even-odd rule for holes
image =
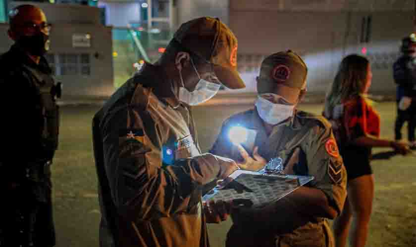
[[[255, 109], [226, 120], [210, 151], [240, 160], [252, 170], [277, 158], [285, 173], [314, 177], [306, 186], [261, 209], [208, 204], [208, 222], [225, 220], [231, 212], [234, 224], [227, 247], [333, 246], [326, 218], [335, 218], [344, 205], [346, 171], [330, 124], [296, 109], [306, 93], [306, 77], [306, 64], [292, 51], [265, 58], [257, 78]], [[247, 150], [246, 143], [230, 140], [229, 130], [237, 125], [256, 133], [253, 150]]]

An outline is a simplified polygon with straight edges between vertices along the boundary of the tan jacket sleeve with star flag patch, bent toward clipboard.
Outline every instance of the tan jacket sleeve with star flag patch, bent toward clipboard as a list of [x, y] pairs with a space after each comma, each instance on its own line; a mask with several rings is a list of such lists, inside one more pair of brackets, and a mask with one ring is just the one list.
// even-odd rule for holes
[[[147, 121], [146, 126], [143, 121]], [[114, 114], [108, 123], [104, 119], [101, 127], [105, 172], [114, 205], [129, 219], [151, 220], [187, 212], [199, 204], [202, 185], [224, 173], [222, 161], [211, 154], [163, 165], [157, 148], [160, 133], [151, 121], [150, 116], [127, 109]], [[126, 124], [132, 122], [135, 124]]]

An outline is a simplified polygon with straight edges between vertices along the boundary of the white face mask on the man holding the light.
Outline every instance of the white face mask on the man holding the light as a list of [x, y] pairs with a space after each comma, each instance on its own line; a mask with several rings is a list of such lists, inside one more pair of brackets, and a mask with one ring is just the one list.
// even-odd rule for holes
[[[266, 93], [259, 95], [256, 101], [257, 112], [260, 118], [267, 124], [278, 124], [293, 116], [295, 105], [276, 104], [263, 98], [264, 95], [271, 95], [276, 99], [283, 98], [280, 95]], [[283, 98], [284, 99], [284, 98]]]

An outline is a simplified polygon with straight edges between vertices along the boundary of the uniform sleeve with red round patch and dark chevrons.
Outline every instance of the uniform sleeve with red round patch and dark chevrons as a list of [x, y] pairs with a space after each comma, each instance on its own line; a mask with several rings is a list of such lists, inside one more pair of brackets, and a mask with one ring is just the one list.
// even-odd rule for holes
[[309, 174], [314, 179], [309, 186], [320, 189], [329, 205], [341, 213], [347, 195], [347, 172], [329, 126], [315, 126], [304, 144]]

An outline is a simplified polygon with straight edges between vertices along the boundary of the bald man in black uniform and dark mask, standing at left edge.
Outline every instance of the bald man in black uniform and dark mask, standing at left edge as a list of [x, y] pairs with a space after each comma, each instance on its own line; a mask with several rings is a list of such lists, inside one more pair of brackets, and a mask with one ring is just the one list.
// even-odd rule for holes
[[43, 56], [51, 25], [33, 5], [12, 9], [9, 19], [14, 44], [0, 56], [0, 247], [52, 247], [59, 90]]

